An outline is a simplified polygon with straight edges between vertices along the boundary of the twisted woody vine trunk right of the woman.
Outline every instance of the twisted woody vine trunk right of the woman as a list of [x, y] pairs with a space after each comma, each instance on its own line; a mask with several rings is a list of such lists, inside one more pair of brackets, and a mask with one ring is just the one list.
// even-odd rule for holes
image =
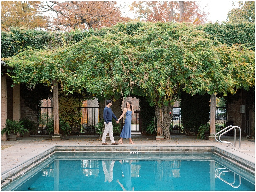
[[161, 132], [158, 132], [159, 129], [157, 129], [157, 133], [159, 136], [164, 136], [166, 140], [170, 140], [170, 124], [171, 124], [171, 117], [170, 117], [170, 109], [172, 111], [172, 105], [168, 104], [168, 106], [162, 105], [161, 107], [158, 106], [158, 104], [155, 105], [155, 111], [156, 111], [156, 118], [157, 118], [157, 126], [162, 128], [163, 134]]

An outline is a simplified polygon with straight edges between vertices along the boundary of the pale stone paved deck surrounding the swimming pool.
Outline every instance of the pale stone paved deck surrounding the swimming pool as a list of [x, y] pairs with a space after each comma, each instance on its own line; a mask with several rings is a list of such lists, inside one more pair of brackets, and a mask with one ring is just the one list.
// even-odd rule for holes
[[[119, 136], [114, 136], [118, 142]], [[222, 136], [222, 141], [234, 143], [234, 137]], [[255, 164], [255, 143], [252, 139], [241, 138], [241, 149], [239, 147], [239, 137], [236, 147], [228, 147], [225, 143], [217, 141], [199, 140], [196, 136], [171, 135], [171, 140], [155, 140], [154, 136], [132, 135], [135, 145], [129, 145], [129, 140], [124, 139], [123, 145], [111, 145], [110, 140], [106, 140], [110, 145], [102, 145], [99, 136], [79, 135], [63, 136], [60, 141], [52, 141], [49, 135], [31, 135], [28, 138], [17, 138], [16, 141], [1, 141], [1, 175], [22, 165], [25, 162], [37, 157], [39, 154], [49, 151], [53, 147], [67, 149], [69, 151], [88, 151], [87, 148], [97, 148], [97, 151], [209, 151], [211, 147], [217, 147], [228, 156], [241, 158], [253, 167]], [[154, 150], [154, 147], [157, 150]], [[135, 149], [135, 150], [134, 150]], [[3, 179], [3, 178], [2, 178]]]

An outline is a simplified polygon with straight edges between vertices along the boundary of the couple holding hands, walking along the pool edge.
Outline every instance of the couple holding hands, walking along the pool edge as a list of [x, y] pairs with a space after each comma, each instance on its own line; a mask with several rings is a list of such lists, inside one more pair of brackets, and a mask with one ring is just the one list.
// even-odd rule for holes
[[[129, 144], [135, 144], [132, 141], [132, 136], [131, 136], [131, 128], [132, 128], [132, 114], [134, 115], [134, 111], [132, 108], [132, 102], [127, 101], [126, 107], [124, 108], [123, 114], [119, 117], [119, 119], [116, 118], [114, 113], [111, 110], [111, 105], [112, 105], [112, 100], [107, 100], [106, 101], [106, 107], [104, 108], [103, 111], [103, 118], [104, 118], [104, 124], [105, 124], [105, 130], [102, 135], [102, 145], [108, 145], [106, 143], [106, 136], [109, 133], [109, 138], [111, 140], [112, 145], [117, 145], [117, 144], [123, 144], [123, 138], [128, 139], [129, 138]], [[121, 139], [118, 141], [118, 143], [115, 142], [114, 136], [113, 136], [113, 125], [112, 125], [112, 117], [116, 119], [116, 123], [119, 123], [119, 120], [123, 118], [124, 114], [126, 114], [126, 118], [124, 121], [124, 127], [121, 132]]]

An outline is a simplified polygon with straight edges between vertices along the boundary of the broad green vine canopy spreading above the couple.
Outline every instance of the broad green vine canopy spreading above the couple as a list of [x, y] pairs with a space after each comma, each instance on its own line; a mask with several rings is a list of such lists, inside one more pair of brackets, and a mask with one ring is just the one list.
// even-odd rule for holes
[[25, 50], [4, 60], [14, 83], [51, 86], [57, 78], [63, 91], [133, 94], [151, 106], [167, 105], [180, 88], [193, 95], [254, 85], [253, 51], [227, 47], [189, 23], [138, 23], [133, 32], [126, 31], [133, 23], [119, 23], [72, 46]]

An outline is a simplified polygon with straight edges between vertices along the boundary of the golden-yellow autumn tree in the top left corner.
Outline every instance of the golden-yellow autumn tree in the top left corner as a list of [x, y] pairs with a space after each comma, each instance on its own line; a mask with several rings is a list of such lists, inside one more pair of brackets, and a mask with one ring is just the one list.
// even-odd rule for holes
[[38, 10], [38, 1], [2, 1], [2, 30], [9, 31], [11, 27], [45, 28], [48, 17]]

